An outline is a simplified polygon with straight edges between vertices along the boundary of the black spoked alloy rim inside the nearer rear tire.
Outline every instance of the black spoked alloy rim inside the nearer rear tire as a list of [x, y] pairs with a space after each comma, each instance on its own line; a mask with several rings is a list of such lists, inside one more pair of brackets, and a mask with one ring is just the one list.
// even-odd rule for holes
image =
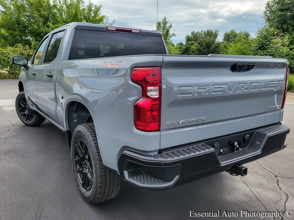
[[75, 144], [74, 160], [82, 187], [90, 191], [93, 185], [93, 163], [88, 147], [81, 138], [78, 138]]

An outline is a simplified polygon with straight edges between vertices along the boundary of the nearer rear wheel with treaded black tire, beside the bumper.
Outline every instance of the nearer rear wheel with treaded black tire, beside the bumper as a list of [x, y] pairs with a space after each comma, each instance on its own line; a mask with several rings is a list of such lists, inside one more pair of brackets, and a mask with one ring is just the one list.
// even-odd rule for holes
[[116, 197], [121, 178], [103, 165], [93, 123], [76, 127], [71, 139], [71, 162], [86, 201], [96, 204]]

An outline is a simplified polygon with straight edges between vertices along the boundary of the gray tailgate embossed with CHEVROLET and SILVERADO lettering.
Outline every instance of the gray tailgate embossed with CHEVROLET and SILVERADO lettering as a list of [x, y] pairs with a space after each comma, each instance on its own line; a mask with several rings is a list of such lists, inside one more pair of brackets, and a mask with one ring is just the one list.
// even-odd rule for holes
[[[255, 66], [232, 72], [236, 63]], [[278, 123], [287, 66], [271, 57], [163, 55], [160, 148]]]

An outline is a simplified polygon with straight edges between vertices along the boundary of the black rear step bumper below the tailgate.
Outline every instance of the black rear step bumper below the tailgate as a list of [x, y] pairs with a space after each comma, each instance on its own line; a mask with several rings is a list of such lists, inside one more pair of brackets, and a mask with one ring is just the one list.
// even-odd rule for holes
[[[290, 128], [281, 123], [199, 144], [181, 146], [156, 155], [125, 150], [118, 160], [118, 169], [124, 180], [139, 187], [170, 188], [282, 150], [286, 147], [285, 138], [289, 132]], [[252, 134], [252, 138], [242, 150], [218, 156], [216, 149], [213, 148], [212, 143], [215, 141], [231, 140], [230, 138], [236, 136], [243, 138], [248, 133]]]

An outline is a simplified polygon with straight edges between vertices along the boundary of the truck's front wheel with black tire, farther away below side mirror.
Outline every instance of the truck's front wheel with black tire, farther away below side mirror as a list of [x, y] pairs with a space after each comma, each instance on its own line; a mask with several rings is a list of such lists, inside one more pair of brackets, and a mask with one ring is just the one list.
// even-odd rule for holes
[[26, 101], [26, 96], [24, 94], [24, 91], [22, 91], [16, 96], [15, 99], [16, 114], [21, 120], [21, 122], [27, 126], [38, 126], [46, 120], [43, 116], [41, 116], [38, 113], [30, 115], [28, 113], [28, 108], [29, 107]]

